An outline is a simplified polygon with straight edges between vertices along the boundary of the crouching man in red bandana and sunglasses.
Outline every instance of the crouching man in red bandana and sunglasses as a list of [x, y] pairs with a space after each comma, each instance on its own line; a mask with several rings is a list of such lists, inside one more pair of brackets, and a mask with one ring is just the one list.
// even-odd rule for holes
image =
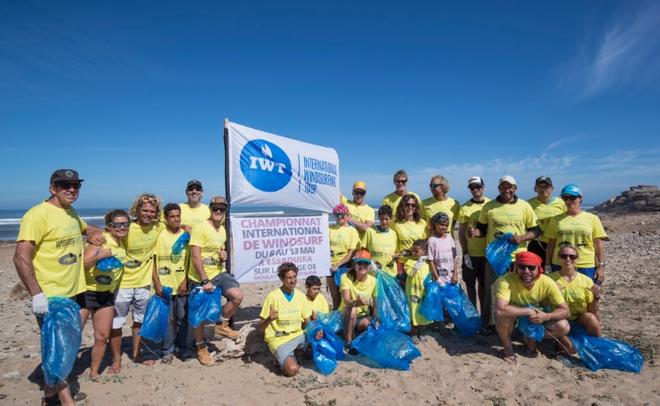
[[[502, 341], [502, 358], [516, 363], [516, 356], [511, 345], [511, 333], [518, 317], [527, 316], [530, 323], [544, 324], [545, 336], [561, 339], [570, 330], [568, 305], [557, 287], [557, 284], [547, 275], [543, 275], [541, 258], [529, 251], [516, 255], [514, 272], [502, 276], [497, 283], [496, 293], [497, 318], [495, 326]], [[551, 313], [541, 310], [541, 306], [550, 304], [554, 307]], [[530, 356], [538, 355], [536, 342], [524, 337], [527, 352]]]

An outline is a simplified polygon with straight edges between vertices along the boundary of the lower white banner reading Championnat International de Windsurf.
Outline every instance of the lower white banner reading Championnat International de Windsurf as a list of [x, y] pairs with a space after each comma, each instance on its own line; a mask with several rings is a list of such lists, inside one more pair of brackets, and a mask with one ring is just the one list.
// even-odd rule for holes
[[277, 267], [293, 262], [298, 281], [330, 275], [328, 215], [232, 217], [232, 271], [239, 282], [278, 282]]

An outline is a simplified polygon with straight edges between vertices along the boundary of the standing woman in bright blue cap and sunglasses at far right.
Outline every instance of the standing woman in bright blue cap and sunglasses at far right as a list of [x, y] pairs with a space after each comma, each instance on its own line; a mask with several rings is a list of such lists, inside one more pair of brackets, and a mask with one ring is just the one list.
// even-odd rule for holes
[[582, 210], [582, 196], [582, 189], [574, 183], [561, 190], [566, 213], [554, 217], [548, 224], [546, 264], [552, 264], [551, 270], [558, 271], [561, 268], [559, 248], [571, 244], [579, 254], [575, 264], [577, 271], [602, 284], [605, 279], [603, 241], [608, 238], [598, 216]]

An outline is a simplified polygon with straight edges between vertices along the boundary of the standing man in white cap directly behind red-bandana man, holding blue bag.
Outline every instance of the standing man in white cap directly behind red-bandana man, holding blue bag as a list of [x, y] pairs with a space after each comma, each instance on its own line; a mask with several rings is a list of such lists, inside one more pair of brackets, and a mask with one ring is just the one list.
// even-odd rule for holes
[[[488, 246], [499, 235], [512, 233], [511, 242], [519, 245], [518, 249], [511, 254], [513, 259], [518, 252], [527, 250], [526, 242], [538, 237], [541, 230], [532, 206], [516, 195], [517, 185], [513, 176], [501, 177], [497, 188], [500, 192], [499, 196], [484, 205], [479, 213], [477, 228], [472, 229], [470, 234], [471, 237], [486, 236], [486, 246]], [[497, 275], [486, 262], [484, 310], [487, 315], [490, 315], [490, 322], [493, 321], [492, 289], [496, 279]], [[490, 335], [494, 331], [492, 324], [489, 323], [482, 333]]]

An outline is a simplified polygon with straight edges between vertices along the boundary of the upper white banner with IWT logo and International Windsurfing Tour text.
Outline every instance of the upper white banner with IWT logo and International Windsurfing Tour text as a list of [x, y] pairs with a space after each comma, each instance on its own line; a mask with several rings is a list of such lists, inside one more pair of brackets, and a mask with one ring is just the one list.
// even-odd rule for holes
[[231, 204], [325, 212], [339, 204], [339, 157], [334, 149], [227, 125]]

